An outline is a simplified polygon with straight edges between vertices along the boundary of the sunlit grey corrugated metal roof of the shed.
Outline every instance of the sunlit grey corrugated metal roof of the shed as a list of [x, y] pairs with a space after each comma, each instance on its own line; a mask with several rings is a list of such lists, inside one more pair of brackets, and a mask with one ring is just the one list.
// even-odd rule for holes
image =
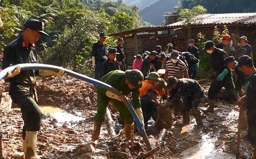
[[[205, 14], [202, 23], [194, 25], [216, 24], [256, 24], [256, 13]], [[184, 21], [169, 24], [170, 27], [181, 27]]]

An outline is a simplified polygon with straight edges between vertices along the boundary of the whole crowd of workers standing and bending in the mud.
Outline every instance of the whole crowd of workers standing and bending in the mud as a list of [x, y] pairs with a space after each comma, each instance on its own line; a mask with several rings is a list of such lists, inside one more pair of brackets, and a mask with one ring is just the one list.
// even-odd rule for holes
[[[21, 108], [22, 119], [24, 120], [22, 140], [25, 158], [39, 158], [35, 153], [37, 131], [41, 129], [41, 111], [37, 102], [35, 90], [36, 76], [63, 75], [64, 70], [59, 72], [49, 70], [22, 70], [20, 63], [37, 63], [35, 42], [44, 34], [44, 23], [39, 20], [30, 19], [24, 24], [23, 34], [8, 44], [4, 49], [3, 69], [17, 65], [13, 72], [8, 72], [4, 78], [10, 82], [10, 96]], [[118, 39], [118, 45], [110, 48], [107, 56], [107, 47], [104, 41], [107, 35], [100, 33], [100, 40], [92, 46], [92, 67], [95, 68], [95, 78], [109, 84], [122, 93], [122, 96], [103, 88], [97, 88], [97, 114], [94, 117], [92, 141], [99, 139], [101, 123], [104, 121], [107, 105], [111, 101], [114, 107], [122, 114], [125, 121], [125, 136], [128, 140], [134, 136], [134, 118], [124, 104], [128, 94], [132, 94], [132, 107], [134, 107], [143, 129], [147, 127], [148, 120], [152, 117], [156, 120], [157, 97], [163, 97], [169, 90], [169, 99], [164, 107], [176, 107], [182, 103], [183, 124], [189, 123], [189, 112], [195, 116], [198, 127], [203, 126], [198, 104], [203, 97], [200, 84], [195, 80], [196, 70], [200, 62], [198, 48], [194, 46], [193, 39], [188, 41], [189, 47], [186, 52], [174, 50], [172, 44], [168, 44], [167, 52], [162, 47], [156, 46], [156, 50], [145, 52], [144, 55], [137, 55], [141, 59], [134, 69], [127, 70], [123, 39]], [[210, 105], [204, 113], [213, 112], [217, 94], [222, 87], [229, 93], [234, 104], [242, 109], [243, 119], [241, 123], [244, 128], [248, 125], [249, 140], [254, 146], [253, 154], [256, 154], [256, 109], [253, 107], [256, 102], [256, 69], [253, 66], [251, 46], [246, 44], [245, 36], [240, 38], [242, 47], [246, 49], [246, 55], [239, 58], [238, 62], [234, 57], [228, 56], [223, 48], [229, 43], [230, 36], [223, 36], [220, 44], [206, 41], [205, 50], [211, 57], [213, 70], [216, 73], [214, 81], [208, 91]], [[210, 61], [209, 61], [210, 62]], [[165, 69], [163, 75], [158, 70]], [[237, 80], [233, 80], [232, 71], [235, 71]], [[162, 78], [161, 78], [162, 77]], [[235, 86], [234, 86], [235, 83]], [[239, 99], [238, 91], [242, 86], [246, 89], [246, 96]], [[167, 96], [166, 96], [167, 97]], [[165, 98], [166, 98], [165, 97]], [[185, 102], [186, 101], [186, 102]], [[244, 102], [245, 101], [245, 102]], [[184, 103], [183, 103], [184, 102]], [[244, 103], [244, 104], [243, 104]], [[171, 119], [171, 118], [170, 118]], [[256, 158], [256, 155], [254, 155]]]

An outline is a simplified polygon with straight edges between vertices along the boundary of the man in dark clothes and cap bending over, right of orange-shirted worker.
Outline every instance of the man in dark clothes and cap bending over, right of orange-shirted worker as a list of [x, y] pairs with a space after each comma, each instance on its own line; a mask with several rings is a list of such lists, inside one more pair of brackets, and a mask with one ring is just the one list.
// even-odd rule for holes
[[196, 123], [198, 127], [202, 127], [203, 123], [201, 120], [200, 111], [197, 109], [198, 104], [201, 102], [203, 97], [203, 91], [200, 84], [193, 79], [177, 79], [176, 77], [170, 76], [167, 78], [166, 88], [170, 89], [170, 99], [166, 105], [172, 105], [179, 102], [182, 97], [186, 99], [186, 106], [183, 107], [182, 116], [183, 124], [189, 124], [190, 117], [189, 112], [192, 111], [192, 114], [195, 116]]

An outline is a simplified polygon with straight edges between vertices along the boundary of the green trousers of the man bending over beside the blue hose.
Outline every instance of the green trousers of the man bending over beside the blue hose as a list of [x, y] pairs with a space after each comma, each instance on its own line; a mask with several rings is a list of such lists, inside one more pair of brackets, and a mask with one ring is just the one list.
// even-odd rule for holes
[[98, 102], [97, 114], [94, 117], [94, 120], [99, 122], [104, 122], [104, 116], [105, 116], [109, 101], [111, 101], [114, 107], [124, 116], [125, 122], [131, 123], [134, 121], [134, 118], [132, 117], [130, 111], [128, 110], [124, 102], [120, 102], [116, 99], [111, 99], [107, 97], [105, 94], [102, 94], [99, 92], [97, 96], [97, 102]]

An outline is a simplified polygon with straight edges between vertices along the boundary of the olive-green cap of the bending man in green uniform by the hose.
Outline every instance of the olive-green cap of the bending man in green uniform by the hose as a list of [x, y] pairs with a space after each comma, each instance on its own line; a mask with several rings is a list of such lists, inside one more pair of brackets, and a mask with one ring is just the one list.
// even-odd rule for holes
[[140, 70], [137, 70], [137, 69], [126, 70], [125, 77], [128, 80], [128, 82], [131, 84], [131, 86], [134, 86], [135, 88], [142, 87], [144, 76]]

